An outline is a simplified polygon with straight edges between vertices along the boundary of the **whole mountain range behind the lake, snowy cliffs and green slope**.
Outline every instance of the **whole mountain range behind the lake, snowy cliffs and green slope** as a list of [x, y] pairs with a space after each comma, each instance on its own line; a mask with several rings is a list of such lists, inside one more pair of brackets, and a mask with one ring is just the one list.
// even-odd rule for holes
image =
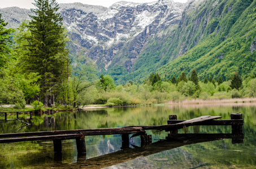
[[[118, 2], [109, 8], [60, 4], [71, 55], [83, 52], [117, 83], [152, 72], [176, 77], [193, 68], [203, 79], [256, 74], [256, 0]], [[1, 9], [12, 28], [29, 10]], [[180, 57], [181, 56], [181, 57]]]

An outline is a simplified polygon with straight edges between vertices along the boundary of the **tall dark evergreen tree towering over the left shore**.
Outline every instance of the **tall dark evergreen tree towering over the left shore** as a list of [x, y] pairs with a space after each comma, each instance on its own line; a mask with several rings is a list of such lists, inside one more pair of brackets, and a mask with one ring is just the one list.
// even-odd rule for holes
[[[63, 77], [68, 76], [68, 51], [66, 50], [66, 34], [62, 24], [62, 16], [57, 12], [55, 0], [34, 1], [34, 15], [30, 16], [29, 31], [31, 37], [28, 46], [29, 56], [26, 58], [27, 70], [41, 75], [41, 95], [45, 106], [54, 104], [54, 94]], [[66, 70], [66, 71], [65, 71]], [[67, 75], [63, 75], [63, 74]]]

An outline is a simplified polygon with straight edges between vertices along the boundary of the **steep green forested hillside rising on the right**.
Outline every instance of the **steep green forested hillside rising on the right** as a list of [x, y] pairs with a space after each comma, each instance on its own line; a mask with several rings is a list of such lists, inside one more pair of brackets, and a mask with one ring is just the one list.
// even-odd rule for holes
[[[171, 79], [195, 68], [199, 79], [222, 77], [228, 80], [238, 72], [242, 77], [255, 74], [256, 1], [202, 1], [193, 3], [176, 28], [166, 38], [153, 38], [138, 57], [141, 63], [168, 64], [157, 69], [161, 77]], [[192, 10], [194, 8], [194, 10]], [[159, 47], [161, 46], [161, 47]], [[181, 54], [184, 54], [181, 57]], [[177, 57], [177, 59], [175, 59]], [[142, 68], [148, 68], [143, 66]], [[140, 74], [141, 68], [134, 72]]]

